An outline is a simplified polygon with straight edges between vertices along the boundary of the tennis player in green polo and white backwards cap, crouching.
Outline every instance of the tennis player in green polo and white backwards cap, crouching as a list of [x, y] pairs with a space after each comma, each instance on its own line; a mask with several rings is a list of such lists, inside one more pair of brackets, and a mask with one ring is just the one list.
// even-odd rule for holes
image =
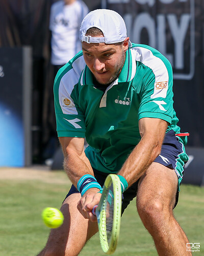
[[110, 173], [120, 178], [122, 212], [137, 196], [158, 254], [189, 255], [173, 216], [188, 134], [177, 126], [169, 61], [149, 46], [132, 44], [124, 20], [112, 10], [90, 12], [80, 39], [82, 52], [60, 69], [54, 84], [57, 132], [73, 185], [61, 207], [64, 223], [50, 231], [39, 255], [80, 253], [97, 232], [91, 210]]

